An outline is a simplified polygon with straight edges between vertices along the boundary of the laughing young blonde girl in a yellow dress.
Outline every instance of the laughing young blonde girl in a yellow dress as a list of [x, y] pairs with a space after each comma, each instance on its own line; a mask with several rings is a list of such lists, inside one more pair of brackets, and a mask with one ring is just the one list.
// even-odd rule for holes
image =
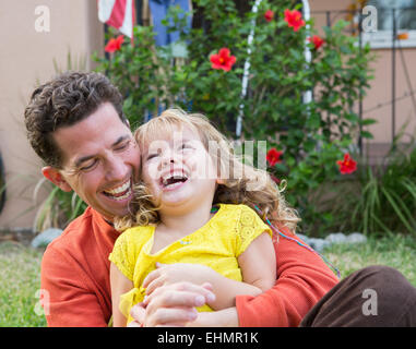
[[[250, 207], [296, 228], [265, 171], [242, 164], [206, 118], [167, 110], [135, 132], [142, 183], [109, 256], [115, 326], [165, 282], [210, 282], [216, 299], [198, 311], [235, 305], [275, 284], [272, 231]], [[265, 217], [263, 217], [265, 218]], [[189, 267], [189, 265], [192, 267]]]

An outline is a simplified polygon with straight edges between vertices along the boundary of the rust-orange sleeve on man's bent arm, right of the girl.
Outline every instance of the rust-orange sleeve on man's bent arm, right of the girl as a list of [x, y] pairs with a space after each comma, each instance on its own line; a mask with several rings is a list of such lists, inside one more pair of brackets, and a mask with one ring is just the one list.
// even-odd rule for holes
[[[285, 228], [283, 233], [298, 239]], [[280, 237], [275, 243], [277, 281], [258, 296], [237, 296], [238, 323], [242, 327], [298, 326], [307, 312], [338, 279], [314, 252]]]

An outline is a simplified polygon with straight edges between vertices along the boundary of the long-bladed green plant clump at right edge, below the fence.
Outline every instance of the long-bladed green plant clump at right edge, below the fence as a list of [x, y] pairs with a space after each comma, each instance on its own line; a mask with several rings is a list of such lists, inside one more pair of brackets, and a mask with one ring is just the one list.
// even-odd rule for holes
[[332, 190], [333, 196], [321, 209], [333, 227], [373, 236], [416, 236], [414, 142], [392, 146], [379, 165], [368, 166], [361, 160], [354, 179], [340, 182]]

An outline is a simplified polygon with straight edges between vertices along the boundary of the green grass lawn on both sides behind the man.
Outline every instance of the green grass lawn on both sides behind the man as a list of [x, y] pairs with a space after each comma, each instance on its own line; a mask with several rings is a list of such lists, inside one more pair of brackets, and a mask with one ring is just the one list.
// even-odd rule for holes
[[[399, 269], [416, 286], [416, 240], [411, 237], [370, 238], [358, 245], [333, 245], [323, 254], [342, 277], [373, 264]], [[19, 243], [0, 243], [0, 327], [46, 326], [38, 311], [43, 252]]]

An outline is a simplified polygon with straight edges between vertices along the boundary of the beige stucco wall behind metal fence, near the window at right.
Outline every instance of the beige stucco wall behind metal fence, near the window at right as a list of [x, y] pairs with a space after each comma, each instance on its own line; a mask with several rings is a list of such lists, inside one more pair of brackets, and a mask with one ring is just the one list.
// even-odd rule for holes
[[[326, 13], [317, 12], [347, 10], [348, 4], [353, 1], [310, 0], [309, 2], [312, 16], [316, 21], [316, 27], [320, 28], [322, 25], [326, 25]], [[346, 13], [333, 12], [331, 14], [331, 21], [333, 22], [345, 17]], [[383, 152], [383, 149], [388, 148], [389, 143], [392, 141], [392, 105], [389, 104], [392, 100], [392, 50], [372, 49], [372, 52], [377, 56], [377, 58], [371, 62], [375, 79], [370, 81], [370, 88], [367, 91], [367, 96], [364, 98], [362, 110], [364, 118], [376, 119], [378, 122], [367, 128], [367, 130], [372, 133], [375, 139], [365, 141], [364, 145], [366, 149], [371, 149], [371, 155], [379, 155]], [[414, 64], [416, 61], [416, 47], [403, 49], [403, 57], [407, 64], [409, 80], [413, 85], [412, 87], [413, 89], [416, 89], [416, 69]], [[416, 110], [413, 107], [412, 98], [409, 96], [405, 96], [406, 93], [409, 93], [411, 87], [407, 85], [404, 65], [399, 51], [396, 51], [395, 61], [395, 97], [400, 99], [395, 104], [395, 130], [399, 132], [399, 130], [408, 122], [406, 132], [408, 134], [415, 134]], [[380, 105], [382, 105], [382, 107], [377, 108]], [[408, 142], [408, 136], [404, 139], [405, 142]]]

